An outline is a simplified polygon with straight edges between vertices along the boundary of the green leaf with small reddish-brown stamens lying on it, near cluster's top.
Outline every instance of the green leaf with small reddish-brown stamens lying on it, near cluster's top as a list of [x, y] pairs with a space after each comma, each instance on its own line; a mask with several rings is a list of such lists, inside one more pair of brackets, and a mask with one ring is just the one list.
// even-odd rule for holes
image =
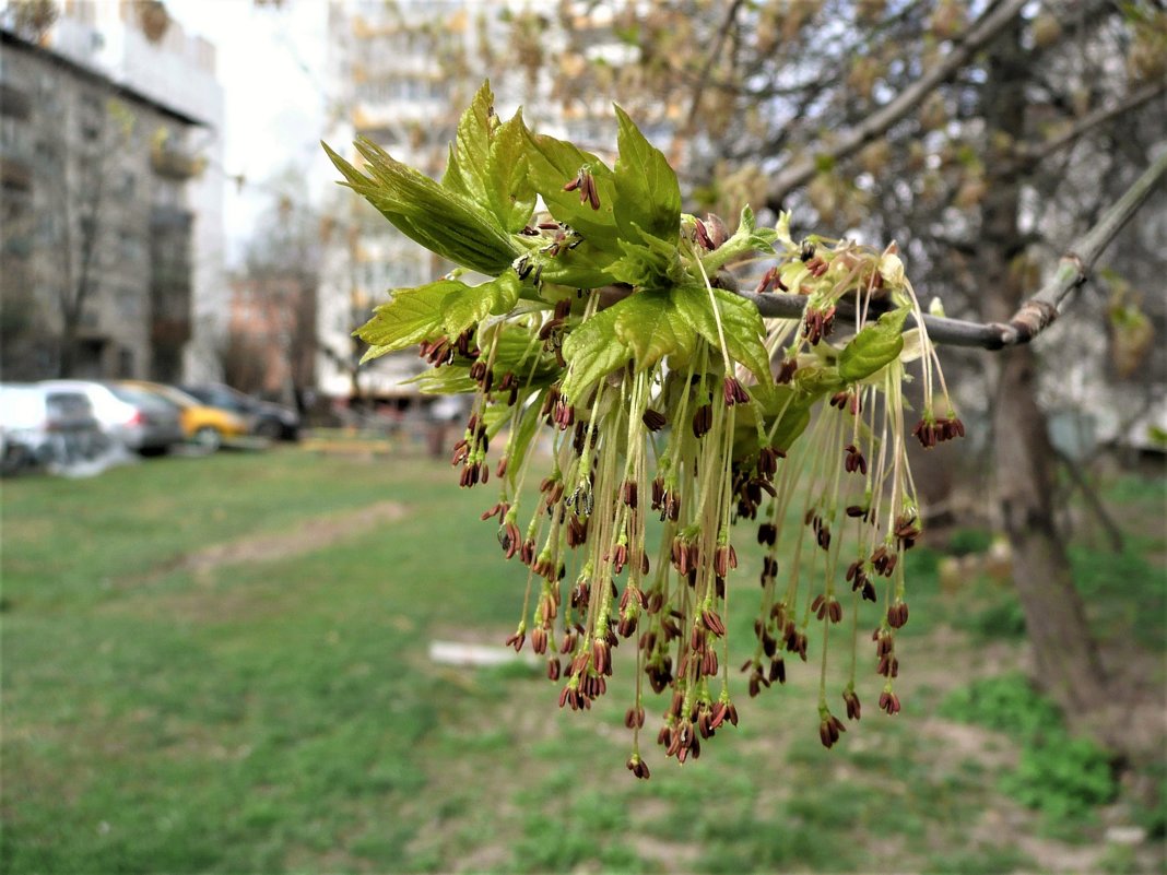
[[[595, 155], [569, 142], [546, 134], [532, 134], [525, 126], [524, 131], [531, 184], [543, 196], [551, 215], [579, 231], [595, 253], [607, 252], [613, 258], [620, 256], [613, 218], [616, 189], [612, 170]], [[574, 180], [581, 169], [587, 169], [595, 181], [600, 195], [599, 210], [593, 210], [586, 201], [580, 203], [579, 191], [564, 191], [564, 186]]]

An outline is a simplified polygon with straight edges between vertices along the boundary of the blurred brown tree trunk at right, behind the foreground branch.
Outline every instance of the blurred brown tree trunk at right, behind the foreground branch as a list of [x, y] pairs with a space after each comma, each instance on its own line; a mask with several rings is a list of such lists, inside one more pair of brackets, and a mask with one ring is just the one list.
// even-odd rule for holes
[[[984, 91], [992, 140], [997, 133], [1025, 134], [1027, 58], [1014, 23], [995, 42]], [[1006, 172], [1007, 173], [1007, 172]], [[1022, 252], [1018, 217], [1020, 180], [991, 178], [984, 201], [979, 265], [985, 276], [985, 308], [1005, 321], [1022, 302], [1022, 287], [1011, 262]], [[1099, 741], [1120, 743], [1106, 708], [1106, 677], [1074, 587], [1065, 546], [1054, 525], [1054, 450], [1036, 397], [1036, 358], [1030, 346], [999, 355], [993, 398], [997, 498], [1013, 548], [1013, 579], [1025, 611], [1037, 682], [1064, 709], [1071, 727]]]

